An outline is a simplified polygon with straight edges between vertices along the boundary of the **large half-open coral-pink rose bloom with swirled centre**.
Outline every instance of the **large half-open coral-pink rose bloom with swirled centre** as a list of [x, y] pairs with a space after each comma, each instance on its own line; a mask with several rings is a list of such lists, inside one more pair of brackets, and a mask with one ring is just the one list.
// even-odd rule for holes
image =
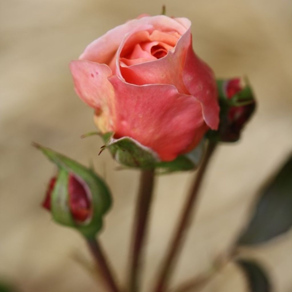
[[192, 49], [186, 18], [141, 15], [89, 44], [72, 61], [75, 91], [95, 124], [171, 161], [219, 123], [212, 70]]

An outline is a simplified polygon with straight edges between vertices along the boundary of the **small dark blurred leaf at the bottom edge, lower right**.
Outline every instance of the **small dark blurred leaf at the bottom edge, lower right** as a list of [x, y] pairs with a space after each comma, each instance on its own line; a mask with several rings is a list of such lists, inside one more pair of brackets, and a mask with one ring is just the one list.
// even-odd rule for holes
[[244, 272], [246, 279], [248, 280], [248, 286], [250, 292], [270, 292], [272, 291], [270, 281], [267, 274], [258, 263], [253, 260], [237, 260], [241, 270]]

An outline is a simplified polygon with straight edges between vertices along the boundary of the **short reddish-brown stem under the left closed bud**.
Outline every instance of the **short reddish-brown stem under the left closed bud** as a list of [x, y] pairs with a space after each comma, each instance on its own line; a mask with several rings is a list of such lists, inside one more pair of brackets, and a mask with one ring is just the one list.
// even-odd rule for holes
[[86, 239], [86, 241], [93, 258], [95, 259], [96, 265], [102, 274], [108, 291], [120, 292], [99, 242], [95, 238]]

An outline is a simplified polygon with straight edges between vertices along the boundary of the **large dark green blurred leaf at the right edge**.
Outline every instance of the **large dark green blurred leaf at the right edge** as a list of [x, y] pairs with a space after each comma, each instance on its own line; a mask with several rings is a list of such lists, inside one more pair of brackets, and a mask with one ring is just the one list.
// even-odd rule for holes
[[263, 243], [292, 226], [292, 155], [263, 188], [238, 245]]

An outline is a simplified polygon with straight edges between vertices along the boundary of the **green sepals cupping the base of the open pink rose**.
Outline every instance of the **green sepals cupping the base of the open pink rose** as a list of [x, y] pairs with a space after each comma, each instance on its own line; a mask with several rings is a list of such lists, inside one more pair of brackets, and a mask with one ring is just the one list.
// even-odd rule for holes
[[158, 155], [148, 147], [130, 137], [114, 139], [113, 133], [103, 135], [105, 145], [100, 153], [108, 148], [113, 158], [120, 164], [137, 168], [159, 168], [162, 173], [173, 171], [189, 171], [196, 169], [204, 152], [202, 141], [194, 150], [187, 154], [178, 156], [173, 161], [160, 161]]

